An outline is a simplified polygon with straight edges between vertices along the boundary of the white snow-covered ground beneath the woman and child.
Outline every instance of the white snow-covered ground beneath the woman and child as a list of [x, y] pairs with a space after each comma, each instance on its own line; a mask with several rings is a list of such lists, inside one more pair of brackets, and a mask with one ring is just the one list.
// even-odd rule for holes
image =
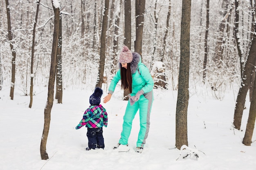
[[[150, 132], [139, 154], [135, 152], [138, 114], [129, 138], [130, 151], [112, 149], [119, 141], [127, 104], [120, 99], [121, 93], [115, 92], [107, 104], [101, 102], [108, 112], [108, 127], [103, 128], [106, 148], [86, 151], [87, 129], [76, 130], [75, 127], [90, 105], [89, 97], [94, 89], [64, 90], [63, 104], [54, 101], [52, 108], [47, 140], [49, 159], [41, 160], [47, 88], [35, 92], [32, 108], [28, 107], [29, 96], [22, 96], [16, 89], [14, 100], [11, 100], [9, 90], [5, 87], [0, 91], [0, 170], [255, 170], [256, 167], [256, 143], [252, 146], [242, 144], [249, 102], [243, 115], [243, 131], [234, 130], [232, 120], [237, 93], [233, 91], [226, 91], [221, 101], [207, 94], [191, 94], [188, 140], [189, 147], [196, 149], [199, 156], [194, 160], [182, 159], [180, 150], [175, 149], [177, 91], [154, 89]], [[106, 89], [103, 97], [105, 95]], [[255, 138], [254, 132], [252, 140]]]

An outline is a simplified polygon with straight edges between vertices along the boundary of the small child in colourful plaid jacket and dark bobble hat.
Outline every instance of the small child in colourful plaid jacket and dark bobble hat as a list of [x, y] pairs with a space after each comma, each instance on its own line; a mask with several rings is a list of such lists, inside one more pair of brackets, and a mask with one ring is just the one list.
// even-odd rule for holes
[[87, 127], [88, 148], [86, 150], [102, 148], [104, 149], [104, 138], [102, 127], [108, 125], [108, 113], [106, 109], [101, 106], [101, 96], [103, 91], [96, 87], [94, 93], [90, 96], [91, 106], [85, 110], [83, 119], [76, 126], [76, 129]]

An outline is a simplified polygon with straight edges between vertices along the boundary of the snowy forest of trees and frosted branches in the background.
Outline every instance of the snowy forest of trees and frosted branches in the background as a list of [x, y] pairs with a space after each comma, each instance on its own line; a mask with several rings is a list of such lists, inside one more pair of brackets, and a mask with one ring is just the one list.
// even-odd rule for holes
[[[183, 57], [181, 22], [186, 13], [182, 1], [130, 0], [130, 10], [122, 0], [58, 2], [58, 49], [56, 72], [52, 73], [57, 87], [52, 90], [100, 86], [107, 91], [102, 83], [108, 85], [119, 69], [118, 53], [125, 44], [141, 54], [155, 88], [178, 91]], [[141, 2], [145, 7], [138, 5]], [[190, 2], [189, 95], [205, 95], [207, 89], [221, 101], [227, 89], [240, 88], [234, 96], [234, 127], [240, 130], [247, 91], [252, 105], [248, 124], [249, 120], [255, 122], [256, 116], [255, 0]], [[49, 0], [0, 0], [0, 90], [10, 88], [13, 100], [13, 91], [33, 96], [31, 86], [48, 87], [55, 12]], [[137, 26], [143, 26], [142, 30]], [[62, 103], [62, 95], [58, 99]], [[249, 146], [254, 123], [247, 128], [243, 144]]]

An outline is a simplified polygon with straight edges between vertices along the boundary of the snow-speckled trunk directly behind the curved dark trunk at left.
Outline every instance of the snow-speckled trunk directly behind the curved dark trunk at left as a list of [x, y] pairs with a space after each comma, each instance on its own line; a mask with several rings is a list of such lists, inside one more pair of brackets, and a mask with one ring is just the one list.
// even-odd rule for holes
[[62, 103], [62, 16], [60, 14], [60, 23], [58, 27], [58, 47], [57, 47], [57, 58], [56, 58], [56, 95], [55, 99], [58, 103]]

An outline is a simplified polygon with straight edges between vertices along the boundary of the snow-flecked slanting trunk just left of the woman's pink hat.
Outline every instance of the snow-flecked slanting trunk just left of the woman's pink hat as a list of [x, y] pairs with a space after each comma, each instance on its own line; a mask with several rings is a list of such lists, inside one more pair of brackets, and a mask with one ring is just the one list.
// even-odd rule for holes
[[117, 54], [118, 54], [118, 30], [119, 30], [119, 22], [120, 22], [120, 13], [121, 13], [121, 0], [117, 2], [119, 11], [115, 11], [115, 28], [114, 28], [114, 38], [113, 38], [113, 55], [112, 55], [112, 63], [111, 63], [111, 74], [115, 74], [117, 71]]

